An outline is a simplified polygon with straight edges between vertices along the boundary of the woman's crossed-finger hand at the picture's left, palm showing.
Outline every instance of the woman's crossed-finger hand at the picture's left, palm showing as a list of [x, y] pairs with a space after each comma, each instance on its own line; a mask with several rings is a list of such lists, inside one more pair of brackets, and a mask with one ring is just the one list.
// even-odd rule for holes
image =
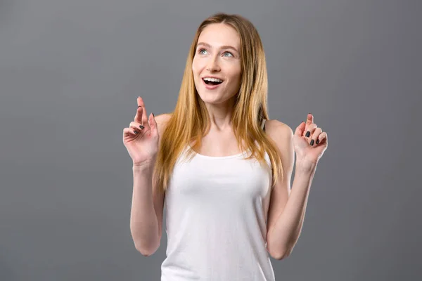
[[[134, 166], [152, 162], [158, 153], [157, 122], [153, 114], [146, 117], [146, 109], [141, 97], [138, 97], [138, 110], [129, 128], [123, 129], [123, 144], [127, 148]], [[143, 129], [141, 129], [143, 126]]]

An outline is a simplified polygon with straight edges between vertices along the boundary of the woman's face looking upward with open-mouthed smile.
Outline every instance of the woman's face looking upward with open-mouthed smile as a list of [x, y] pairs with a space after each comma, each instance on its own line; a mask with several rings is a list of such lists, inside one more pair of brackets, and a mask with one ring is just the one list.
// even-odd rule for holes
[[[211, 24], [200, 33], [192, 71], [196, 91], [205, 103], [224, 103], [241, 86], [241, 40], [233, 27]], [[215, 77], [219, 80], [206, 81]]]

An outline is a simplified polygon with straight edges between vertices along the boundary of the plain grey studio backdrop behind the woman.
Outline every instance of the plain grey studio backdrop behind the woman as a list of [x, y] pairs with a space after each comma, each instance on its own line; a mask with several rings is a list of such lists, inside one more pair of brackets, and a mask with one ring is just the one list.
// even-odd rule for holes
[[[422, 276], [421, 1], [0, 1], [0, 280], [160, 280], [129, 230], [136, 97], [176, 104], [212, 13], [260, 32], [269, 115], [328, 133], [276, 280]], [[164, 221], [165, 223], [165, 221]]]

